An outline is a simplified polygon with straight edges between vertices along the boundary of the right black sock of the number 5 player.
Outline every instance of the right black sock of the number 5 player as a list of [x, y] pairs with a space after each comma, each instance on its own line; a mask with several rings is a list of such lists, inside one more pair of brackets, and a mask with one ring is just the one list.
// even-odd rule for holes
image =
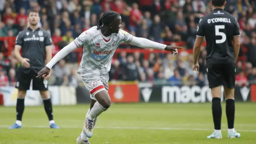
[[226, 100], [226, 116], [228, 119], [228, 129], [234, 128], [235, 100], [233, 100], [233, 99]]

